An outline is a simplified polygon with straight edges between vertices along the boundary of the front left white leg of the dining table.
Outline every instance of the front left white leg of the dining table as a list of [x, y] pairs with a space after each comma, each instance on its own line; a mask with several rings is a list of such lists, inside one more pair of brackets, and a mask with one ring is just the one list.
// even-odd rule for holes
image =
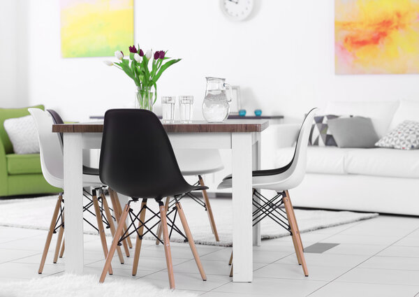
[[64, 133], [66, 273], [83, 273], [82, 134]]

